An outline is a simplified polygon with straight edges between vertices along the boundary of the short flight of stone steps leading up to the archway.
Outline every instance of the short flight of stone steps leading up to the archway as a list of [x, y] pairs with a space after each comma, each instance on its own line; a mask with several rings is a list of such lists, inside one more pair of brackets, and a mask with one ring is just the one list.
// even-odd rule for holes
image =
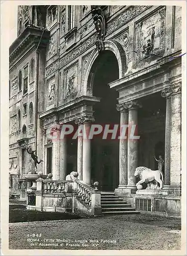
[[123, 198], [115, 196], [113, 192], [101, 192], [102, 214], [139, 214], [140, 211], [132, 208]]

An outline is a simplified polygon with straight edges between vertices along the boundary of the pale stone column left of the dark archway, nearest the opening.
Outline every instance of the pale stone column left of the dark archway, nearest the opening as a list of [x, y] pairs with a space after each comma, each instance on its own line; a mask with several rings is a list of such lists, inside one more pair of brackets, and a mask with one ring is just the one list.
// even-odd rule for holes
[[84, 116], [82, 123], [84, 124], [83, 135], [83, 182], [91, 184], [91, 140], [89, 139], [90, 126], [94, 121], [92, 116]]

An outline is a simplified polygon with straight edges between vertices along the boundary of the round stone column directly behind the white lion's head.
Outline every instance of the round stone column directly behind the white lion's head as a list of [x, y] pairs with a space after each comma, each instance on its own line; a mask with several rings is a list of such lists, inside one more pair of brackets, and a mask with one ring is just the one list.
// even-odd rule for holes
[[138, 108], [141, 105], [137, 100], [130, 100], [125, 103], [125, 107], [128, 108], [128, 183], [129, 188], [136, 188], [135, 169], [138, 167], [138, 138], [135, 139], [132, 136], [138, 136]]

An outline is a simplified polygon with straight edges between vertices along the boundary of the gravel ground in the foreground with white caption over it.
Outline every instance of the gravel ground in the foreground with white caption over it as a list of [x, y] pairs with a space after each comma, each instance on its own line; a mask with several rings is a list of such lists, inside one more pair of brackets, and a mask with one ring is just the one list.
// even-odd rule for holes
[[[147, 223], [152, 220], [152, 224], [141, 223], [145, 223], [146, 219]], [[9, 249], [179, 250], [180, 234], [166, 232], [179, 227], [179, 222], [178, 219], [166, 217], [119, 215], [93, 219], [10, 223]], [[37, 233], [41, 233], [41, 237], [35, 237], [38, 241], [27, 241], [33, 238], [32, 234]], [[31, 237], [28, 238], [28, 234]], [[58, 242], [57, 239], [70, 241]], [[90, 241], [94, 239], [98, 241]], [[113, 240], [116, 242], [112, 242]]]

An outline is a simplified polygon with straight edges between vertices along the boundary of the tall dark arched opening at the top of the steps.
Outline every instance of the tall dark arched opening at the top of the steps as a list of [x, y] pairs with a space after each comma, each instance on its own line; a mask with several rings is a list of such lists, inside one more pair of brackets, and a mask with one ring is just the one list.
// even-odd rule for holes
[[[118, 93], [110, 89], [109, 83], [119, 79], [119, 67], [115, 54], [106, 50], [95, 59], [90, 70], [92, 76], [92, 95], [101, 98], [93, 106], [95, 124], [103, 129], [110, 124], [119, 124], [120, 115], [116, 110]], [[114, 191], [119, 185], [119, 141], [111, 139], [111, 135], [103, 139], [103, 134], [92, 139], [91, 179], [99, 181], [102, 191]]]

